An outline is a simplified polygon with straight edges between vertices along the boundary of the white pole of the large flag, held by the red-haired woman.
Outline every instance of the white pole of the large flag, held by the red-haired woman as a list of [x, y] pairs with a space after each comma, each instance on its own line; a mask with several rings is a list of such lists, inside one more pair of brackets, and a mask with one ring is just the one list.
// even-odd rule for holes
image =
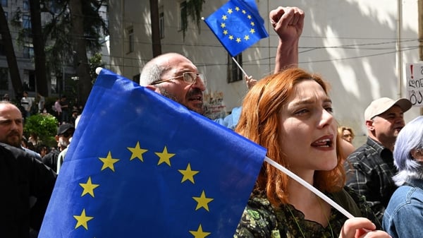
[[276, 167], [276, 169], [281, 170], [282, 172], [284, 172], [285, 174], [287, 174], [289, 177], [291, 177], [292, 179], [294, 179], [296, 182], [299, 182], [302, 186], [305, 186], [307, 189], [309, 189], [314, 194], [316, 194], [317, 196], [319, 196], [321, 199], [323, 199], [324, 201], [326, 201], [326, 203], [329, 203], [331, 206], [333, 206], [333, 208], [336, 208], [336, 210], [338, 210], [340, 213], [342, 213], [343, 215], [345, 215], [347, 218], [354, 218], [354, 216], [351, 213], [349, 213], [348, 210], [345, 210], [343, 207], [339, 206], [338, 203], [336, 203], [335, 201], [333, 201], [328, 196], [324, 195], [321, 191], [319, 191], [316, 188], [314, 188], [314, 186], [312, 186], [311, 184], [305, 182], [305, 180], [302, 179], [302, 178], [300, 178], [300, 177], [298, 177], [297, 174], [294, 174], [293, 172], [290, 172], [288, 169], [286, 169], [286, 167], [283, 167], [282, 165], [279, 165], [277, 162], [275, 162], [274, 160], [271, 160], [267, 156], [264, 157], [264, 161], [268, 162], [270, 165], [273, 165], [274, 167]]

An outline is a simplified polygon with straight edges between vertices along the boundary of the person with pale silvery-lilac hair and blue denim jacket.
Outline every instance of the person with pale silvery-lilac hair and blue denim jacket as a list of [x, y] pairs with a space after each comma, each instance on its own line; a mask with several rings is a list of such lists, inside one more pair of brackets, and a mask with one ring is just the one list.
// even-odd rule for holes
[[423, 116], [404, 126], [393, 149], [398, 189], [386, 207], [382, 227], [393, 238], [421, 237], [423, 224]]

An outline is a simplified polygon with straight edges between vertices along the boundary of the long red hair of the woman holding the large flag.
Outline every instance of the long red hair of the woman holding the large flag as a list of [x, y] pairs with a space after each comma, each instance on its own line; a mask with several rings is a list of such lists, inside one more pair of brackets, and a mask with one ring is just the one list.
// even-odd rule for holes
[[[245, 96], [243, 111], [235, 131], [251, 141], [267, 148], [267, 157], [289, 169], [286, 156], [278, 145], [281, 130], [281, 109], [292, 95], [296, 84], [313, 80], [321, 85], [328, 94], [328, 85], [317, 75], [312, 75], [298, 68], [286, 69], [263, 78], [251, 88]], [[336, 138], [336, 151], [341, 151], [340, 138]], [[338, 164], [330, 171], [316, 171], [314, 186], [320, 191], [339, 191], [345, 184], [345, 171], [338, 154]], [[272, 204], [288, 203], [288, 175], [272, 165], [264, 163], [257, 178], [255, 189], [266, 191]]]

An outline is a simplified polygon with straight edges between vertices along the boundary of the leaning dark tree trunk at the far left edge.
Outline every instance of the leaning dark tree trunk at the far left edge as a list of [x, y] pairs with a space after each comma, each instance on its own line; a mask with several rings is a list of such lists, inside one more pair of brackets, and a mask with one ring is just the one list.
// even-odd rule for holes
[[4, 51], [6, 53], [7, 64], [9, 73], [11, 75], [11, 81], [13, 90], [16, 96], [20, 96], [23, 93], [22, 81], [20, 81], [18, 62], [16, 61], [15, 49], [13, 48], [13, 42], [11, 37], [11, 31], [8, 28], [6, 16], [4, 15], [4, 9], [0, 4], [0, 33], [1, 40], [3, 40]]

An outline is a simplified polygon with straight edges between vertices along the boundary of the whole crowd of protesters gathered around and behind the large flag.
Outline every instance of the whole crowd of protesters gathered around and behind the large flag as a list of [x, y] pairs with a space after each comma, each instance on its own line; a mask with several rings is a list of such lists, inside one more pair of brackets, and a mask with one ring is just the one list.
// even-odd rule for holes
[[[376, 99], [364, 111], [367, 142], [355, 149], [353, 129], [338, 125], [333, 117], [328, 83], [298, 68], [304, 12], [278, 7], [269, 18], [279, 37], [274, 73], [259, 81], [246, 76], [250, 90], [243, 105], [216, 122], [262, 145], [268, 157], [355, 218], [345, 217], [264, 162], [234, 237], [418, 237], [416, 225], [423, 218], [423, 117], [405, 125], [409, 100]], [[140, 85], [204, 113], [205, 81], [181, 54], [162, 54], [145, 64]], [[22, 146], [23, 118], [29, 112], [25, 107], [31, 107], [24, 97], [23, 112], [7, 100], [0, 102], [0, 153], [5, 158], [0, 176], [8, 184], [6, 191], [16, 191], [0, 198], [8, 208], [4, 217], [11, 218], [0, 222], [6, 237], [30, 237], [30, 231], [39, 229], [77, 122], [71, 123], [66, 113], [66, 97], [56, 100], [57, 148], [31, 152]], [[32, 141], [36, 136], [28, 143]], [[19, 181], [25, 186], [16, 184]], [[32, 198], [37, 199], [30, 203]]]

